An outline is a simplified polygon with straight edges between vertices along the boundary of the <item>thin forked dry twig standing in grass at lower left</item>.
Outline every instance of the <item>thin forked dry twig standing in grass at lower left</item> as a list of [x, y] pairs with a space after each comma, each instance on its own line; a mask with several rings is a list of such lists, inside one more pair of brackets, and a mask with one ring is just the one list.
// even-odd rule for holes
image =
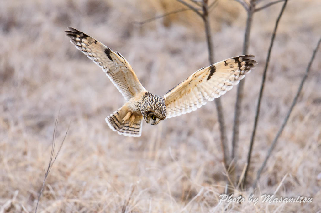
[[[60, 110], [59, 110], [59, 113], [60, 113]], [[49, 164], [48, 164], [47, 171], [45, 171], [45, 178], [43, 179], [43, 182], [42, 182], [42, 186], [41, 186], [41, 190], [40, 190], [40, 193], [39, 193], [39, 196], [38, 196], [38, 201], [37, 201], [35, 213], [37, 213], [40, 197], [41, 197], [41, 194], [43, 192], [43, 189], [45, 188], [45, 182], [47, 180], [49, 172], [51, 171], [51, 168], [52, 168], [54, 162], [56, 161], [58, 154], [60, 153], [60, 150], [62, 148], [62, 145], [64, 144], [64, 141], [66, 139], [66, 136], [67, 136], [67, 133], [68, 133], [68, 130], [69, 130], [69, 127], [68, 127], [68, 129], [66, 131], [66, 134], [65, 134], [65, 136], [64, 136], [64, 138], [63, 138], [63, 140], [62, 140], [62, 142], [61, 142], [61, 144], [59, 146], [58, 152], [57, 152], [55, 158], [53, 158], [54, 157], [55, 146], [56, 146], [56, 135], [57, 135], [58, 121], [59, 121], [59, 113], [58, 113], [58, 117], [57, 117], [56, 122], [55, 122], [54, 133], [53, 133], [53, 137], [52, 137], [52, 145], [51, 145]]]

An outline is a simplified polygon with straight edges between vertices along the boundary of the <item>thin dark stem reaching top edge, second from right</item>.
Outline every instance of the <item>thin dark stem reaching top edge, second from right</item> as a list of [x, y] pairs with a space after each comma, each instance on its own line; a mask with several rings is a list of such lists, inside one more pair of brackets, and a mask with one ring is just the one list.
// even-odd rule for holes
[[250, 146], [248, 148], [247, 169], [245, 170], [244, 179], [243, 179], [243, 185], [245, 185], [246, 178], [247, 178], [247, 171], [248, 171], [248, 168], [249, 168], [250, 162], [251, 162], [251, 154], [252, 154], [253, 143], [254, 143], [254, 138], [255, 138], [255, 134], [256, 134], [257, 122], [258, 122], [258, 119], [259, 119], [259, 114], [260, 114], [260, 109], [261, 109], [261, 100], [262, 100], [262, 95], [263, 95], [263, 91], [264, 91], [266, 72], [267, 72], [267, 68], [269, 66], [269, 62], [270, 62], [271, 51], [272, 51], [272, 47], [273, 47], [276, 31], [278, 29], [279, 22], [280, 22], [280, 19], [282, 17], [282, 14], [284, 12], [284, 9], [285, 9], [285, 6], [286, 6], [287, 2], [288, 2], [288, 0], [284, 1], [284, 4], [283, 4], [282, 9], [280, 11], [280, 14], [279, 14], [279, 16], [278, 16], [278, 18], [277, 18], [277, 20], [275, 22], [275, 27], [274, 27], [274, 30], [273, 30], [273, 34], [272, 34], [269, 50], [267, 52], [267, 57], [266, 57], [266, 61], [265, 61], [265, 67], [264, 67], [264, 71], [263, 71], [263, 75], [262, 75], [261, 88], [260, 88], [259, 97], [258, 97], [258, 100], [257, 100], [255, 121], [254, 121], [253, 131], [252, 131], [252, 135], [251, 135]]

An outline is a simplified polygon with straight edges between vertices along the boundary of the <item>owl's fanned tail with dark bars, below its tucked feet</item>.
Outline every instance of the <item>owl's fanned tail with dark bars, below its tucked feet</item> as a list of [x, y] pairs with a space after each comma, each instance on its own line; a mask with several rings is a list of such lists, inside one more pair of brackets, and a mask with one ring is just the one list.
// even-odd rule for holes
[[142, 115], [130, 113], [126, 107], [121, 107], [106, 118], [110, 129], [117, 131], [119, 135], [140, 137], [142, 134]]

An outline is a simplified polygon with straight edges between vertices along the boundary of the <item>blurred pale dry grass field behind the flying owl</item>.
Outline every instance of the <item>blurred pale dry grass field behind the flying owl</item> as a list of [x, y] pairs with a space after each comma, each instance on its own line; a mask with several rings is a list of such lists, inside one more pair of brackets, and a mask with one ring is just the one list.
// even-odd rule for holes
[[[2, 2], [0, 211], [34, 211], [60, 107], [58, 141], [70, 121], [71, 126], [38, 212], [321, 209], [320, 53], [255, 193], [272, 194], [280, 185], [276, 196], [304, 195], [313, 197], [312, 203], [218, 204], [225, 176], [213, 102], [157, 126], [144, 124], [141, 138], [126, 138], [108, 128], [105, 116], [124, 100], [100, 68], [69, 43], [64, 30], [77, 28], [121, 52], [147, 89], [164, 94], [208, 65], [201, 20], [184, 12], [143, 26], [134, 21], [181, 7], [156, 0]], [[274, 5], [254, 15], [249, 53], [256, 55], [259, 65], [245, 84], [239, 174], [246, 162], [259, 82], [280, 7]], [[298, 0], [290, 1], [284, 12], [267, 74], [249, 182], [255, 178], [321, 34], [320, 8], [319, 1]], [[215, 60], [239, 55], [245, 12], [234, 1], [221, 1], [213, 13]], [[233, 89], [222, 97], [229, 136], [235, 93]], [[248, 197], [251, 192], [241, 193]]]

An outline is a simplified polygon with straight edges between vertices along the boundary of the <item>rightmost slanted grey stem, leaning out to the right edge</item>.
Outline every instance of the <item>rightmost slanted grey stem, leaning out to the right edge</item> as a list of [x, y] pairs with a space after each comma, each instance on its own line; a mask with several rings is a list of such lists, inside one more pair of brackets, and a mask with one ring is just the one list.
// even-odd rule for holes
[[280, 137], [280, 135], [282, 134], [282, 131], [283, 131], [286, 123], [287, 123], [288, 120], [289, 120], [290, 114], [291, 114], [291, 112], [292, 112], [295, 104], [297, 103], [297, 100], [298, 100], [299, 95], [300, 95], [300, 93], [301, 93], [303, 84], [304, 84], [305, 80], [306, 80], [307, 77], [308, 77], [308, 74], [309, 74], [309, 72], [310, 72], [310, 68], [311, 68], [312, 62], [313, 62], [313, 60], [314, 60], [314, 58], [315, 58], [315, 56], [316, 56], [317, 50], [319, 49], [320, 43], [321, 43], [321, 37], [320, 37], [320, 39], [319, 39], [319, 41], [318, 41], [318, 43], [317, 43], [317, 47], [316, 47], [316, 48], [314, 49], [314, 51], [313, 51], [312, 57], [311, 57], [311, 59], [310, 59], [310, 62], [309, 62], [308, 67], [307, 67], [307, 69], [306, 69], [306, 72], [305, 72], [305, 74], [304, 74], [304, 76], [303, 76], [303, 78], [302, 78], [302, 80], [301, 80], [299, 89], [298, 89], [298, 91], [297, 91], [297, 93], [296, 93], [296, 95], [295, 95], [295, 97], [294, 97], [294, 99], [293, 99], [293, 101], [292, 101], [292, 104], [291, 104], [291, 106], [290, 106], [290, 109], [289, 109], [289, 111], [288, 111], [288, 113], [287, 113], [287, 115], [286, 115], [286, 117], [285, 117], [285, 119], [284, 119], [284, 121], [283, 121], [283, 123], [282, 123], [282, 125], [281, 125], [281, 127], [280, 127], [280, 129], [279, 129], [279, 131], [277, 132], [277, 134], [276, 134], [276, 136], [275, 136], [275, 138], [274, 138], [274, 140], [273, 140], [270, 148], [269, 148], [269, 151], [268, 151], [268, 153], [267, 153], [267, 155], [266, 155], [266, 157], [265, 157], [265, 159], [264, 159], [264, 162], [262, 163], [262, 166], [261, 166], [260, 169], [257, 171], [256, 179], [255, 179], [255, 181], [254, 181], [254, 183], [253, 183], [253, 188], [256, 187], [257, 181], [258, 181], [258, 179], [259, 179], [260, 176], [261, 176], [262, 170], [264, 169], [264, 167], [265, 167], [265, 165], [266, 165], [266, 162], [267, 162], [267, 160], [269, 159], [269, 157], [270, 157], [270, 155], [271, 155], [271, 153], [272, 153], [272, 151], [273, 151], [273, 149], [274, 149], [274, 147], [275, 147], [275, 145], [276, 145], [277, 140], [279, 139], [279, 137]]

